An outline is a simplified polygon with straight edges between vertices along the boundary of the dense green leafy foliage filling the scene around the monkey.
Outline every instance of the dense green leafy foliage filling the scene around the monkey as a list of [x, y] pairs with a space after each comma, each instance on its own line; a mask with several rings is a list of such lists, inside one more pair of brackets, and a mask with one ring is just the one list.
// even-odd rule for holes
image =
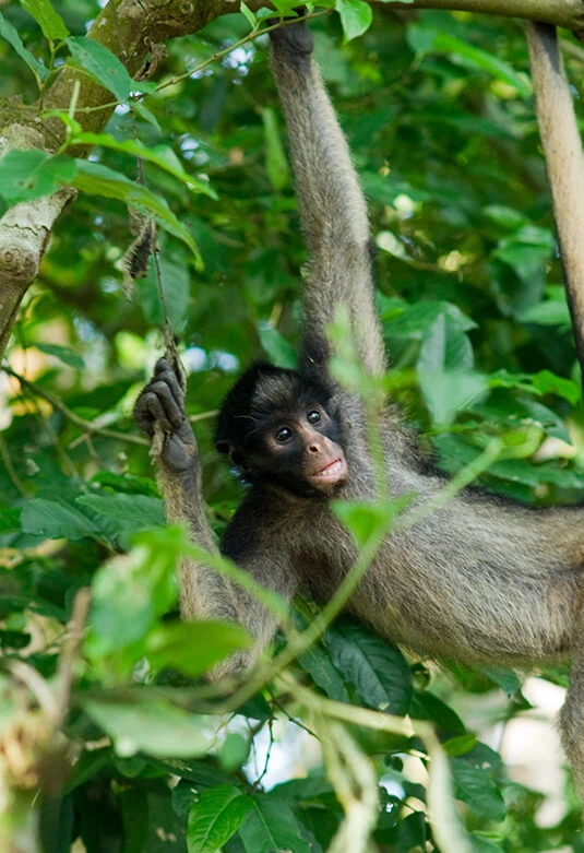
[[[31, 67], [43, 75], [69, 56], [80, 73], [109, 80], [121, 106], [97, 139], [80, 135], [72, 108], [56, 158], [13, 152], [0, 161], [2, 211], [60, 183], [80, 189], [0, 375], [0, 735], [5, 754], [22, 747], [24, 769], [17, 777], [12, 766], [11, 782], [25, 807], [43, 802], [43, 850], [61, 853], [81, 839], [88, 853], [323, 851], [345, 814], [362, 841], [355, 826], [359, 807], [367, 813], [371, 767], [380, 806], [370, 849], [437, 850], [428, 750], [439, 836], [450, 826], [448, 756], [473, 850], [584, 849], [573, 796], [559, 822], [539, 828], [541, 795], [513, 781], [480, 742], [493, 723], [487, 709], [504, 723], [528, 708], [514, 673], [452, 663], [445, 677], [341, 620], [284, 676], [242, 697], [237, 714], [198, 680], [245, 640], [176, 616], [172, 571], [186, 538], [164, 525], [131, 420], [164, 346], [164, 311], [154, 264], [124, 295], [120, 259], [133, 239], [124, 202], [160, 226], [165, 303], [221, 532], [242, 486], [213, 452], [213, 411], [251, 359], [293, 364], [298, 337], [305, 252], [266, 37], [227, 50], [250, 32], [247, 12], [168, 43], [154, 78], [166, 85], [141, 84], [146, 94], [130, 108], [135, 90], [83, 38], [97, 2], [52, 4], [71, 34], [67, 46], [59, 22], [44, 21], [45, 35], [58, 27], [56, 55], [24, 11], [44, 5], [2, 9], [0, 98], [32, 104]], [[444, 471], [479, 459], [479, 469], [489, 462], [481, 484], [504, 496], [581, 499], [580, 380], [521, 25], [378, 8], [371, 28], [347, 44], [338, 17], [320, 16], [312, 28], [370, 200], [388, 386]], [[570, 37], [565, 49], [576, 95], [584, 51]], [[72, 163], [82, 142], [95, 145], [90, 161]], [[136, 154], [145, 187], [132, 182]], [[349, 521], [366, 543], [371, 519], [356, 512]], [[87, 585], [86, 638], [70, 649], [64, 628]], [[311, 614], [301, 603], [297, 630]], [[546, 675], [565, 683], [563, 670]], [[485, 699], [476, 732], [451, 707], [462, 707], [463, 694]], [[51, 711], [53, 696], [61, 712]], [[376, 731], [381, 714], [362, 709], [409, 714], [413, 727], [389, 718], [388, 731]], [[69, 746], [43, 741], [39, 721], [51, 713], [58, 725], [64, 718]], [[40, 801], [27, 798], [37, 786]]]

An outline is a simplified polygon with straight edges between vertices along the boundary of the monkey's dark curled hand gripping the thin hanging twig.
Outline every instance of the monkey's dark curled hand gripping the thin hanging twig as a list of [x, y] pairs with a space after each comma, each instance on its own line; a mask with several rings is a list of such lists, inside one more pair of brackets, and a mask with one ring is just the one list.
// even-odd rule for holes
[[164, 435], [160, 461], [175, 474], [195, 464], [199, 448], [184, 411], [184, 392], [165, 358], [156, 364], [154, 376], [134, 406], [138, 426], [151, 438], [158, 426]]

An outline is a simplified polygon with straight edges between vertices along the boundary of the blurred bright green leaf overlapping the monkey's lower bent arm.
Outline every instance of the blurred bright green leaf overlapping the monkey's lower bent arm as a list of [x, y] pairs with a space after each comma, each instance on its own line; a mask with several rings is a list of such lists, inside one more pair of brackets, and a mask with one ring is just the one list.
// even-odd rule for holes
[[146, 655], [156, 670], [171, 666], [194, 677], [250, 645], [250, 637], [239, 625], [198, 619], [160, 625], [147, 637]]

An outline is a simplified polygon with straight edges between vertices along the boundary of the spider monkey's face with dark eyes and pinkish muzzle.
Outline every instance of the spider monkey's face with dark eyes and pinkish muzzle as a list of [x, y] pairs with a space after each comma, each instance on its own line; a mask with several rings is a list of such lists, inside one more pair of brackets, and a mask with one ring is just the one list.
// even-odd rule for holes
[[262, 467], [294, 490], [333, 495], [348, 474], [338, 431], [319, 404], [279, 414], [262, 430]]

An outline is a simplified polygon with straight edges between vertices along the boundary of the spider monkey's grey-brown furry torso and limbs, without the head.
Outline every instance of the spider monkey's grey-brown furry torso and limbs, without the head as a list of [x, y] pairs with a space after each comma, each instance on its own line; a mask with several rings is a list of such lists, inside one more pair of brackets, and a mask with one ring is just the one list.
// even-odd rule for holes
[[[286, 115], [310, 254], [301, 364], [326, 371], [330, 347], [324, 330], [335, 305], [344, 303], [365, 368], [381, 375], [385, 355], [373, 306], [366, 203], [310, 52], [303, 24], [274, 34], [273, 71]], [[148, 389], [156, 393], [154, 380], [145, 394]], [[339, 388], [336, 394], [343, 399], [343, 447], [349, 472], [342, 497], [372, 497], [360, 402]], [[213, 552], [196, 443], [181, 396], [178, 405], [180, 417], [171, 424], [160, 464], [168, 518], [188, 519], [193, 538]], [[140, 401], [141, 422], [139, 408]], [[392, 414], [386, 416], [383, 439], [391, 493], [414, 491], [418, 501], [433, 496], [444, 481], [424, 471]], [[582, 510], [531, 510], [478, 491], [460, 493], [433, 514], [388, 537], [355, 592], [350, 611], [380, 635], [430, 655], [499, 664], [558, 659], [574, 650], [579, 636], [583, 517]], [[357, 556], [325, 499], [300, 497], [273, 484], [254, 485], [248, 493], [222, 550], [283, 595], [291, 597], [301, 589], [320, 601], [331, 596]], [[259, 648], [270, 642], [273, 617], [212, 570], [184, 560], [180, 589], [186, 618], [237, 619], [257, 638]], [[252, 660], [253, 655], [240, 654], [228, 667], [246, 668]], [[581, 785], [583, 667], [576, 656], [562, 718], [564, 742]]]

